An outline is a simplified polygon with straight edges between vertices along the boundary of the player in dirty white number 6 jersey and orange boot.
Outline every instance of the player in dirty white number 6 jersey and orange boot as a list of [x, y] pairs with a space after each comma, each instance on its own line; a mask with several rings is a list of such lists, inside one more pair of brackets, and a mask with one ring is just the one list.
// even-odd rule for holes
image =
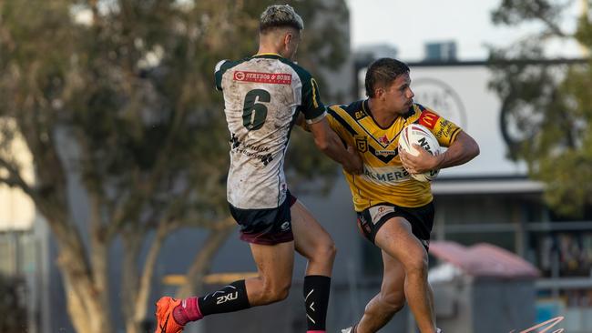
[[240, 225], [240, 238], [250, 243], [259, 276], [235, 281], [203, 297], [160, 298], [158, 333], [177, 333], [204, 316], [286, 298], [294, 250], [308, 259], [303, 290], [307, 332], [325, 332], [334, 243], [291, 196], [283, 171], [297, 116], [306, 119], [316, 146], [345, 170], [361, 173], [362, 161], [329, 126], [314, 78], [292, 62], [302, 28], [300, 15], [290, 5], [271, 5], [260, 16], [258, 54], [239, 61], [223, 60], [215, 68], [230, 130], [230, 213]]

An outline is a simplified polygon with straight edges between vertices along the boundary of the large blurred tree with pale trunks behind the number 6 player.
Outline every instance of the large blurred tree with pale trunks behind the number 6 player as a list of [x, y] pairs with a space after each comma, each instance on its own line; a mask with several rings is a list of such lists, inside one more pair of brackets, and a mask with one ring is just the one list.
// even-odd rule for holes
[[[324, 3], [293, 5], [306, 22], [347, 15], [341, 0]], [[46, 217], [78, 332], [115, 330], [108, 252], [117, 239], [125, 248], [128, 332], [138, 332], [147, 316], [158, 251], [179, 227], [210, 233], [182, 289], [199, 292], [199, 277], [235, 225], [227, 213], [228, 130], [213, 68], [256, 52], [258, 16], [270, 4], [0, 0], [0, 182], [21, 188]], [[321, 25], [333, 35], [335, 17]], [[346, 52], [344, 36], [329, 42], [323, 35], [307, 35], [301, 47], [313, 72], [312, 65]], [[13, 154], [18, 140], [31, 152], [34, 182]], [[324, 170], [322, 179], [334, 173], [310, 144], [294, 144], [307, 153], [292, 165], [294, 175], [312, 166]], [[72, 214], [72, 183], [84, 188], [83, 219]], [[140, 257], [144, 246], [148, 255]]]

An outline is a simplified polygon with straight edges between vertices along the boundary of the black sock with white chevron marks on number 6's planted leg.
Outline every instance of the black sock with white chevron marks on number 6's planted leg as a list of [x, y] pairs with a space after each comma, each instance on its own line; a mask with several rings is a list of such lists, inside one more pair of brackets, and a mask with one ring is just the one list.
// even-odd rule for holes
[[304, 304], [308, 330], [325, 330], [331, 278], [320, 275], [304, 277]]

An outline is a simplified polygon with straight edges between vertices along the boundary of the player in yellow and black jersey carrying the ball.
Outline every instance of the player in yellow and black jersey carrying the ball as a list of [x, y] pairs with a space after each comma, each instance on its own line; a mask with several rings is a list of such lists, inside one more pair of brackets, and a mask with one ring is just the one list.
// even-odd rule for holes
[[[479, 154], [475, 140], [437, 113], [413, 103], [409, 67], [383, 58], [368, 68], [368, 99], [349, 106], [332, 106], [327, 118], [342, 140], [356, 146], [364, 172], [343, 171], [352, 190], [362, 234], [383, 253], [383, 284], [362, 318], [344, 333], [369, 333], [382, 328], [405, 303], [422, 333], [440, 331], [435, 325], [434, 297], [427, 282], [427, 250], [434, 223], [430, 183], [410, 173], [462, 165]], [[429, 128], [444, 154], [432, 156], [419, 146], [419, 156], [397, 151], [404, 126]]]

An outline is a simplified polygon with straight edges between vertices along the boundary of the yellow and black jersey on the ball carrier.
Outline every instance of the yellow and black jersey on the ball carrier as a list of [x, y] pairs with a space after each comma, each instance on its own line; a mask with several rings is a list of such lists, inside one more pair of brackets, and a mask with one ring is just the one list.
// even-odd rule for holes
[[421, 207], [432, 201], [430, 183], [411, 177], [399, 159], [397, 143], [404, 126], [413, 123], [426, 126], [434, 133], [440, 146], [450, 146], [461, 131], [459, 126], [419, 104], [413, 104], [388, 128], [376, 124], [368, 100], [349, 106], [331, 106], [327, 119], [342, 140], [357, 147], [362, 156], [362, 175], [343, 171], [357, 212], [382, 202], [401, 207]]

